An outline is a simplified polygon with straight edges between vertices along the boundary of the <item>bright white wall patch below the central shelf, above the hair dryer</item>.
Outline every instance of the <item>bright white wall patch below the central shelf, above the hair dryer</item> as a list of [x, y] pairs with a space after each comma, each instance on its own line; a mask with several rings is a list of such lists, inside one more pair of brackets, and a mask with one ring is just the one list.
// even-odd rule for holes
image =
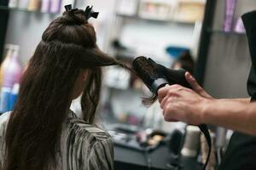
[[194, 25], [133, 20], [125, 25], [121, 41], [138, 55], [168, 62], [166, 58], [171, 56], [166, 54], [166, 48], [192, 48], [193, 32]]

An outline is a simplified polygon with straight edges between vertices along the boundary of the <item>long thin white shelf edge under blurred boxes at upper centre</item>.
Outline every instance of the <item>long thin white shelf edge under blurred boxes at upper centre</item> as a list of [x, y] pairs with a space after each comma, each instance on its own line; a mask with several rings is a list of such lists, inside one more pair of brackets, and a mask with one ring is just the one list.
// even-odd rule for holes
[[142, 17], [139, 15], [116, 14], [116, 16], [123, 18], [123, 19], [128, 19], [128, 20], [144, 20], [144, 21], [148, 21], [148, 22], [157, 22], [157, 23], [162, 23], [162, 24], [175, 23], [175, 24], [180, 24], [180, 25], [195, 26], [195, 22], [184, 22], [184, 21], [179, 21], [179, 20], [160, 20], [160, 19], [154, 19], [154, 18], [146, 18], [146, 17]]

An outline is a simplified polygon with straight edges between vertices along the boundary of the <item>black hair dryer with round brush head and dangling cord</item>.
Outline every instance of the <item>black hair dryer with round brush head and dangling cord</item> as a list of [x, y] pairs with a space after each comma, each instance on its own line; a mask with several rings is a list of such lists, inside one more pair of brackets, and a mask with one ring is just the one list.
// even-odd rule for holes
[[[133, 70], [136, 71], [138, 77], [140, 77], [145, 85], [150, 89], [153, 94], [157, 94], [160, 88], [163, 88], [166, 84], [179, 84], [186, 88], [191, 88], [189, 83], [185, 79], [185, 72], [181, 70], [167, 69], [163, 65], [159, 65], [154, 62], [153, 59], [146, 57], [137, 57], [132, 62]], [[207, 162], [211, 153], [211, 136], [208, 131], [207, 125], [201, 124], [198, 126], [201, 132], [205, 135], [207, 139], [207, 144], [209, 146], [209, 152], [207, 156]], [[207, 162], [203, 169], [207, 167]]]

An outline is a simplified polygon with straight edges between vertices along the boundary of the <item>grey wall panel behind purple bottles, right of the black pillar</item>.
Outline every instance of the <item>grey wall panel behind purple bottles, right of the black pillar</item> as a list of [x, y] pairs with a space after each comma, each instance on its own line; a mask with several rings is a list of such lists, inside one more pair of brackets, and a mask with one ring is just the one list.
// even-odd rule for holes
[[[255, 1], [238, 0], [236, 18], [255, 7]], [[217, 98], [247, 97], [247, 77], [251, 65], [247, 37], [245, 34], [222, 32], [223, 20], [224, 1], [218, 0], [204, 87]]]

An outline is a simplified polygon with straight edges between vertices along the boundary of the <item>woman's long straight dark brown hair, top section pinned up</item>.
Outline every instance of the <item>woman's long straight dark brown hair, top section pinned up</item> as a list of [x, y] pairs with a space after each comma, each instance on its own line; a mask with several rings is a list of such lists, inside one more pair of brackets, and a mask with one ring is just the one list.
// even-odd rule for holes
[[96, 46], [84, 11], [65, 12], [44, 31], [20, 82], [5, 135], [4, 170], [46, 170], [60, 156], [62, 124], [80, 69], [88, 71], [81, 99], [84, 121], [92, 123], [99, 103], [101, 66], [120, 65]]

